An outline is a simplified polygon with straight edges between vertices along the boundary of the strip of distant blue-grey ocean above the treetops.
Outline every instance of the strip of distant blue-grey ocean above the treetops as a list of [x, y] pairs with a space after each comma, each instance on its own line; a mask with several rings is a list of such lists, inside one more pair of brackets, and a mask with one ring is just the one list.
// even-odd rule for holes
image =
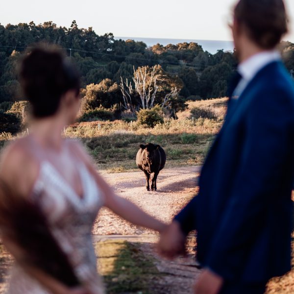
[[166, 46], [168, 44], [178, 44], [183, 42], [195, 42], [202, 46], [204, 51], [215, 54], [218, 50], [233, 51], [234, 45], [232, 41], [215, 41], [215, 40], [189, 40], [189, 39], [160, 39], [160, 38], [134, 38], [134, 37], [115, 37], [115, 39], [143, 41], [148, 47], [156, 45], [157, 43]]

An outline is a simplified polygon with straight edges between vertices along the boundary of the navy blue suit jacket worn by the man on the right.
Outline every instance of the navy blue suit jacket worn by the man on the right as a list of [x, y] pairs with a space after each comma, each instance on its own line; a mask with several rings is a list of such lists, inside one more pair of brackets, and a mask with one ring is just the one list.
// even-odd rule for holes
[[175, 217], [197, 230], [203, 267], [246, 283], [289, 271], [293, 178], [294, 85], [276, 61], [229, 100], [199, 194]]

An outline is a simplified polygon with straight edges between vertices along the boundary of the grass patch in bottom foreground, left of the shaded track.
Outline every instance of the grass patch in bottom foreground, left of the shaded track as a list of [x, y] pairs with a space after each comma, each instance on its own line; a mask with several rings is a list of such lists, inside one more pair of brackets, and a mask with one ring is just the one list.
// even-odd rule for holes
[[140, 244], [125, 241], [97, 243], [98, 271], [108, 294], [151, 294], [160, 275], [151, 257], [144, 255]]

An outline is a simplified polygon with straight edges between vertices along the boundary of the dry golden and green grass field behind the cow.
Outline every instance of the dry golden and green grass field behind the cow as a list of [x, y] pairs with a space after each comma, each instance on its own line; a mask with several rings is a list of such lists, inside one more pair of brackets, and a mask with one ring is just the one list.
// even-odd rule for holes
[[[189, 102], [178, 120], [165, 119], [154, 128], [136, 122], [75, 123], [65, 129], [65, 136], [80, 139], [93, 156], [99, 170], [125, 172], [136, 170], [135, 158], [142, 143], [161, 145], [167, 153], [167, 167], [201, 165], [215, 134], [223, 122], [226, 99]], [[209, 108], [214, 118], [191, 118], [194, 108]], [[203, 112], [205, 113], [205, 111]], [[25, 135], [18, 134], [18, 136]], [[0, 134], [0, 148], [17, 136]]]

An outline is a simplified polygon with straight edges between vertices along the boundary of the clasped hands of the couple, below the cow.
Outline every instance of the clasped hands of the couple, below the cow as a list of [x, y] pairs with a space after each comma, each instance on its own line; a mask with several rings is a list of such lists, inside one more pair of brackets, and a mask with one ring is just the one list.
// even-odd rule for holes
[[180, 254], [185, 254], [186, 236], [180, 228], [178, 221], [172, 221], [161, 233], [157, 249], [160, 255], [172, 259]]

